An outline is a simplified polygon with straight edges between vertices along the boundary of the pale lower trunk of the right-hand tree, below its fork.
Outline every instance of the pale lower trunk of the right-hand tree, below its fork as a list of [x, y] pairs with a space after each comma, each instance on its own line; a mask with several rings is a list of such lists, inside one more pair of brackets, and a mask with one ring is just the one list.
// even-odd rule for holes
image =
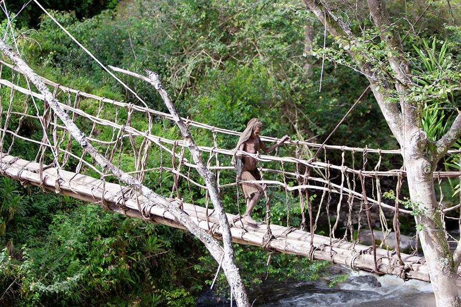
[[438, 307], [460, 306], [456, 287], [457, 268], [450, 253], [435, 196], [433, 168], [435, 153], [428, 151], [426, 134], [420, 130], [405, 146], [411, 206], [415, 221], [423, 225], [418, 231]]

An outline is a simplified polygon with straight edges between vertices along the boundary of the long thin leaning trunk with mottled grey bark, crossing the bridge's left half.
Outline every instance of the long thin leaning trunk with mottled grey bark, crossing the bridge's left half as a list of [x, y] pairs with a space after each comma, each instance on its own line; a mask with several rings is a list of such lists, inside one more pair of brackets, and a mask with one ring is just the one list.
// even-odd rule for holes
[[[69, 133], [78, 142], [78, 144], [89, 153], [89, 155], [96, 161], [96, 163], [107, 170], [109, 170], [117, 179], [124, 184], [132, 187], [136, 191], [140, 192], [145, 198], [149, 199], [153, 204], [164, 207], [167, 211], [177, 218], [177, 220], [191, 233], [193, 233], [201, 242], [205, 245], [208, 251], [212, 254], [216, 261], [220, 262], [223, 252], [218, 242], [203, 229], [199, 228], [192, 219], [185, 214], [184, 211], [167, 201], [161, 195], [154, 193], [148, 187], [142, 185], [141, 182], [133, 178], [127, 173], [124, 173], [118, 167], [113, 165], [108, 159], [101, 155], [98, 150], [91, 145], [86, 138], [85, 134], [75, 125], [72, 119], [69, 118], [66, 112], [59, 106], [57, 99], [53, 97], [53, 94], [49, 91], [48, 87], [41, 80], [41, 78], [27, 65], [27, 63], [20, 58], [20, 56], [13, 51], [13, 49], [6, 45], [6, 43], [0, 39], [0, 49], [2, 52], [13, 61], [13, 63], [24, 73], [24, 75], [35, 85], [37, 90], [44, 95], [45, 100], [49, 103], [55, 114], [59, 119], [66, 125]], [[240, 286], [241, 278], [238, 273], [238, 268], [233, 264], [233, 261], [228, 259], [222, 261], [222, 268], [227, 277], [229, 284], [233, 288], [236, 297], [237, 304], [239, 306], [248, 306], [248, 300], [246, 299], [246, 292], [240, 293], [243, 287], [243, 283]], [[232, 258], [231, 258], [232, 259]], [[246, 299], [246, 300], [245, 300]]]

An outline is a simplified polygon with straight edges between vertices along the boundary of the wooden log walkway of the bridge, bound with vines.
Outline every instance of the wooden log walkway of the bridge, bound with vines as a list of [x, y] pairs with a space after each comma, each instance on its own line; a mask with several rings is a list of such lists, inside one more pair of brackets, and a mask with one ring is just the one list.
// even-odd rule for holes
[[[101, 204], [103, 208], [116, 211], [120, 214], [142, 218], [156, 224], [163, 224], [175, 228], [184, 227], [175, 221], [173, 215], [159, 206], [149, 205], [142, 195], [132, 189], [119, 184], [103, 182], [82, 174], [58, 170], [55, 167], [43, 165], [40, 178], [40, 165], [18, 157], [3, 154], [0, 159], [0, 174], [19, 180], [23, 185], [40, 186], [43, 190], [53, 191], [90, 203]], [[191, 216], [197, 225], [208, 230], [217, 239], [221, 238], [221, 227], [216, 214], [212, 209], [207, 210], [200, 206], [181, 203], [170, 199]], [[265, 239], [267, 226], [257, 228], [246, 225], [238, 216], [227, 214], [231, 225], [234, 242], [264, 247], [270, 251], [296, 254], [316, 260], [328, 260], [334, 264], [350, 267], [354, 270], [372, 272], [374, 269], [373, 252], [371, 247], [352, 244], [345, 240], [330, 239], [326, 236], [314, 234], [278, 225], [270, 225], [273, 238]], [[312, 240], [312, 248], [311, 248]], [[423, 257], [401, 254], [403, 265], [391, 250], [376, 249], [378, 274], [396, 275], [404, 279], [430, 281], [428, 269]], [[458, 270], [458, 275], [461, 269]], [[458, 278], [458, 287], [461, 288], [461, 279]]]

